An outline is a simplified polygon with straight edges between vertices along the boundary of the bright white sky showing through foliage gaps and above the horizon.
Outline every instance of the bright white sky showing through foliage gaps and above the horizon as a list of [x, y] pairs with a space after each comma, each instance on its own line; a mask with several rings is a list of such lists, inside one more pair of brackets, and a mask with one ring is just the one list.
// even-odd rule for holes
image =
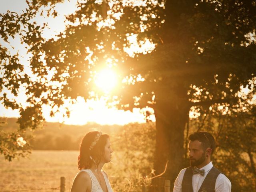
[[[64, 3], [58, 4], [56, 6], [57, 12], [60, 13], [56, 18], [40, 16], [38, 15], [35, 21], [39, 24], [43, 22], [48, 22], [48, 29], [44, 30], [43, 37], [50, 39], [55, 35], [59, 34], [65, 29], [64, 16], [71, 14], [76, 10], [77, 0], [65, 0]], [[1, 0], [0, 12], [6, 13], [7, 10], [13, 12], [22, 12], [27, 8], [25, 0]], [[21, 44], [19, 36], [14, 39], [9, 38], [10, 45], [4, 42], [0, 38], [0, 44], [3, 44], [9, 48], [11, 54], [19, 52], [20, 62], [24, 65], [24, 70], [33, 78], [33, 74], [30, 69], [30, 57], [31, 54], [27, 54], [27, 49], [24, 44]], [[144, 52], [145, 50], [152, 50], [155, 45], [149, 41], [141, 43], [138, 45], [136, 41], [136, 35], [130, 37], [131, 46], [126, 48], [124, 51], [128, 52], [130, 56], [133, 56], [134, 52]], [[13, 46], [13, 48], [11, 47]], [[133, 51], [133, 52], [132, 52]], [[0, 74], [0, 76], [2, 73]], [[34, 77], [35, 78], [35, 77]], [[106, 80], [108, 79], [108, 80]], [[98, 77], [95, 80], [95, 86], [102, 89], [104, 92], [111, 91], [116, 84], [115, 73], [110, 69], [103, 69], [99, 72]], [[7, 93], [8, 98], [14, 98], [14, 96], [8, 90], [3, 90]], [[0, 94], [2, 95], [3, 92]], [[20, 104], [26, 106], [26, 94], [24, 90], [20, 88], [20, 94], [16, 98]], [[43, 114], [48, 122], [63, 122], [65, 124], [86, 124], [88, 122], [96, 122], [98, 124], [128, 124], [130, 122], [145, 122], [144, 115], [142, 115], [139, 108], [134, 108], [133, 111], [118, 110], [115, 107], [108, 108], [106, 106], [106, 98], [101, 98], [100, 100], [84, 100], [84, 98], [77, 99], [77, 103], [73, 105], [68, 105], [71, 111], [70, 118], [63, 118], [61, 113], [56, 113], [54, 117], [50, 117], [50, 107], [43, 106]], [[64, 104], [65, 105], [65, 104]], [[145, 109], [144, 109], [145, 110]], [[60, 111], [62, 111], [60, 109]], [[4, 108], [3, 104], [0, 104], [0, 116], [5, 117], [18, 117], [18, 110], [11, 110]], [[154, 120], [154, 117], [153, 117]]]

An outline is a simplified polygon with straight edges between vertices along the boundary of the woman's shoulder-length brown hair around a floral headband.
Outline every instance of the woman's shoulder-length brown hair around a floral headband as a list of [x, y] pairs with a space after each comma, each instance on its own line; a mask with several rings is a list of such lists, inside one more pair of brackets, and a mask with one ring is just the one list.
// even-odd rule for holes
[[82, 139], [82, 142], [80, 144], [80, 154], [78, 156], [79, 170], [91, 168], [94, 162], [90, 158], [90, 156], [94, 159], [97, 166], [100, 163], [100, 160], [104, 158], [104, 147], [106, 146], [109, 139], [109, 136], [107, 134], [102, 134], [92, 150], [89, 150], [92, 142], [95, 141], [98, 133], [98, 131], [89, 132]]

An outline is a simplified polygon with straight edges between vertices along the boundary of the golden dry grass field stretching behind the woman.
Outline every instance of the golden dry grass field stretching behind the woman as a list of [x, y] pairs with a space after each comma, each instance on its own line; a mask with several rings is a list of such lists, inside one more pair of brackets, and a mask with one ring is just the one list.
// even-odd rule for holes
[[[65, 191], [69, 192], [78, 172], [78, 154], [79, 151], [33, 150], [29, 158], [12, 162], [0, 156], [0, 192], [58, 192], [62, 176], [66, 178]], [[128, 179], [122, 182], [124, 175], [131, 178], [131, 175], [139, 174], [138, 170], [132, 171], [131, 175], [124, 171], [129, 165], [128, 162], [120, 164], [123, 155], [122, 152], [114, 152], [112, 162], [103, 167], [113, 190], [118, 192], [127, 191], [126, 185], [130, 183]]]

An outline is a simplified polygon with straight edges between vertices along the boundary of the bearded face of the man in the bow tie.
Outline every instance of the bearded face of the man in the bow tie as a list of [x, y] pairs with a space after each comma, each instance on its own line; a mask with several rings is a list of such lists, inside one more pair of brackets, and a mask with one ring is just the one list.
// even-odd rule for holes
[[205, 151], [202, 142], [195, 140], [188, 144], [190, 166], [200, 166], [206, 160]]

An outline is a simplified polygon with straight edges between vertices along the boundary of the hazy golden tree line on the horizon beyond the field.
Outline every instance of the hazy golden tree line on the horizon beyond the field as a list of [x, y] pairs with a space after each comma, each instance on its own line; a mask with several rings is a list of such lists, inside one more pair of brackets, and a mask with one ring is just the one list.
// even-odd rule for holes
[[[16, 156], [26, 156], [32, 150], [79, 150], [82, 137], [90, 130], [101, 130], [113, 135], [120, 132], [119, 125], [86, 124], [66, 125], [57, 122], [44, 122], [44, 128], [18, 132], [17, 118], [0, 118], [0, 152], [12, 160]], [[16, 140], [22, 137], [26, 144], [18, 145]], [[24, 151], [27, 153], [24, 153]]]

